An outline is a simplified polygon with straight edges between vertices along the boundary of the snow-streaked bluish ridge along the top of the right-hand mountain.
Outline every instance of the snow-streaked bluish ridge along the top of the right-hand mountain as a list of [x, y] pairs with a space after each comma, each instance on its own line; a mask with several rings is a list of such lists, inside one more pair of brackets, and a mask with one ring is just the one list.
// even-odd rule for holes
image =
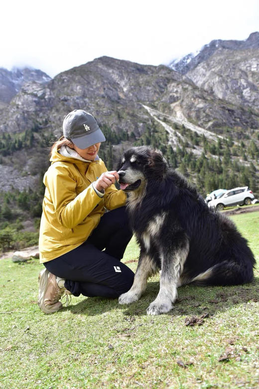
[[[217, 50], [246, 50], [259, 49], [259, 32], [253, 32], [246, 40], [212, 40], [209, 44], [205, 44], [200, 51], [189, 53], [183, 58], [175, 59], [169, 63], [169, 67], [173, 70], [186, 74], [194, 69], [201, 62], [209, 59]], [[234, 53], [233, 53], [234, 54]]]

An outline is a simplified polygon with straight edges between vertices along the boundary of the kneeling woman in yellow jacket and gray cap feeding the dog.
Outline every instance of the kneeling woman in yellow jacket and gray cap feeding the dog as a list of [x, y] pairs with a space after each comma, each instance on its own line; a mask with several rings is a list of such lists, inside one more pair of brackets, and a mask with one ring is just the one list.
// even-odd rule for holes
[[43, 180], [39, 251], [45, 268], [39, 274], [38, 304], [45, 313], [62, 308], [64, 293], [116, 298], [134, 278], [120, 262], [132, 236], [126, 195], [114, 186], [118, 173], [108, 172], [98, 157], [106, 139], [83, 110], [66, 116], [63, 134], [52, 147]]

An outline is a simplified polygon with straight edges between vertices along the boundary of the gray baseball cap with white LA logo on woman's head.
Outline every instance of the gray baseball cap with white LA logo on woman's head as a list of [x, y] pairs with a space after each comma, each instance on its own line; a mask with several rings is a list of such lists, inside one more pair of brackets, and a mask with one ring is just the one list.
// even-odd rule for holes
[[79, 149], [87, 149], [96, 143], [106, 141], [93, 115], [82, 109], [75, 109], [65, 117], [63, 134]]

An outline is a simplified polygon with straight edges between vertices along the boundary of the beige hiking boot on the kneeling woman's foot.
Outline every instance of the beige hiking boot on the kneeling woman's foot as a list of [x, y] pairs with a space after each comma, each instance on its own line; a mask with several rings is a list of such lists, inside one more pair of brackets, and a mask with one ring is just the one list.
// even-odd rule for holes
[[[59, 281], [63, 281], [60, 280]], [[61, 285], [60, 285], [61, 286]], [[59, 287], [56, 276], [50, 273], [46, 268], [39, 273], [39, 296], [38, 305], [44, 313], [53, 313], [62, 308], [62, 303], [59, 301], [63, 294], [71, 294], [63, 287]], [[68, 299], [67, 299], [68, 300]]]

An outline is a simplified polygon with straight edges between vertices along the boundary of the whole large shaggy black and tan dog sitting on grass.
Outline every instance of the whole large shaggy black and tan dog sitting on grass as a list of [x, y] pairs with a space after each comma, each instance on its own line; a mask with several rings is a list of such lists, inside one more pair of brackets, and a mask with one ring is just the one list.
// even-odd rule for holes
[[160, 290], [147, 308], [149, 315], [168, 312], [181, 285], [238, 285], [253, 280], [255, 258], [246, 239], [229, 218], [208, 208], [160, 152], [144, 146], [128, 150], [119, 176], [140, 245], [133, 285], [119, 297], [120, 304], [137, 301], [147, 278], [158, 269]]

